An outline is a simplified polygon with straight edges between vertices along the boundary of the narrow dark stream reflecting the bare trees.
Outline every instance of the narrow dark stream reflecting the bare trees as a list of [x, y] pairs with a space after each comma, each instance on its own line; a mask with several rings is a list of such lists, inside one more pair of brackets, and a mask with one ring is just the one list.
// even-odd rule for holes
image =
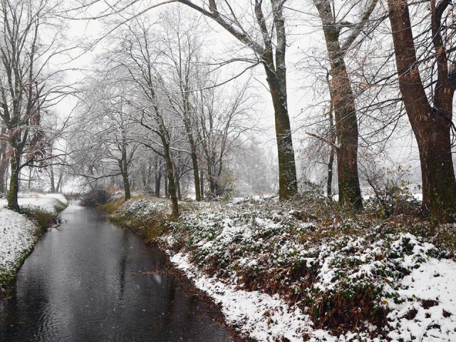
[[166, 257], [70, 205], [0, 301], [0, 341], [231, 341]]

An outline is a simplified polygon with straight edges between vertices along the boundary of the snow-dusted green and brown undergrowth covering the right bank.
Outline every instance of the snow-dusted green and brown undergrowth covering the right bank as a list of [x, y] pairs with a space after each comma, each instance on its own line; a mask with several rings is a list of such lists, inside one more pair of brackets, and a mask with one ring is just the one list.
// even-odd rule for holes
[[142, 199], [110, 218], [147, 242], [186, 252], [209, 275], [279, 294], [316, 328], [384, 337], [394, 328], [388, 303], [404, 301], [400, 279], [429, 257], [455, 257], [455, 225], [435, 226], [404, 208], [385, 218], [383, 209], [356, 213], [305, 196], [183, 202], [172, 222], [167, 202]]

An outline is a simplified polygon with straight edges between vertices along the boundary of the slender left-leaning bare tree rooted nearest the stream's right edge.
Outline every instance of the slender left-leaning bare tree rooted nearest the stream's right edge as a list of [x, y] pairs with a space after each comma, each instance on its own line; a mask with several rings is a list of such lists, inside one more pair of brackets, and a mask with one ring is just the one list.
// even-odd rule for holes
[[[172, 160], [172, 129], [175, 123], [165, 105], [166, 86], [155, 62], [160, 56], [160, 44], [153, 41], [152, 25], [147, 21], [130, 23], [128, 31], [120, 37], [119, 46], [113, 51], [110, 61], [118, 71], [128, 73], [135, 85], [137, 122], [145, 128], [141, 143], [162, 155], [167, 167], [167, 182], [172, 202], [172, 216], [179, 217], [175, 167]], [[158, 64], [158, 63], [157, 63]], [[166, 101], [167, 102], [167, 101]]]

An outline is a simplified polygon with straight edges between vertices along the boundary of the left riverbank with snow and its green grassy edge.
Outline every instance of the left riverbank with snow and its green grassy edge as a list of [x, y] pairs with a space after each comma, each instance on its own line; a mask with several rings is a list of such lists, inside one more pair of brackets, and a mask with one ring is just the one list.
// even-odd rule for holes
[[24, 214], [6, 208], [6, 199], [0, 199], [0, 294], [68, 202], [60, 194], [24, 194], [19, 205]]

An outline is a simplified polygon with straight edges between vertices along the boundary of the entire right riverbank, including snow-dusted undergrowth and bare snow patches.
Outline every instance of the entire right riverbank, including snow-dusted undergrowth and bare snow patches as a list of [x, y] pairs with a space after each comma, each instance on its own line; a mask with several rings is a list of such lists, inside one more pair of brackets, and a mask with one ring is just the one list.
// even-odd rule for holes
[[172, 222], [168, 202], [141, 199], [111, 219], [157, 242], [245, 336], [456, 338], [455, 225], [270, 198], [182, 202], [181, 210]]

